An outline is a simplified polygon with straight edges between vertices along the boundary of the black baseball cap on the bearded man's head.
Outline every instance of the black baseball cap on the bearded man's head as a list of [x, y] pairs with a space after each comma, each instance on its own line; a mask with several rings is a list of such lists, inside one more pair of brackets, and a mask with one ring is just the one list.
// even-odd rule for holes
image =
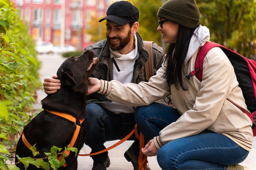
[[128, 1], [118, 1], [110, 5], [107, 16], [103, 20], [110, 20], [118, 25], [134, 23], [139, 20], [139, 10]]

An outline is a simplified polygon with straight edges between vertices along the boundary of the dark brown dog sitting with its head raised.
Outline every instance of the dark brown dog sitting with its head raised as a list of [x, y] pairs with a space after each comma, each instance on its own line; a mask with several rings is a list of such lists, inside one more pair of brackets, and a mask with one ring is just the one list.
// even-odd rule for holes
[[[79, 57], [70, 57], [62, 63], [57, 71], [58, 79], [61, 81], [61, 89], [41, 101], [44, 111], [40, 112], [25, 126], [24, 136], [22, 135], [25, 139], [20, 137], [16, 155], [19, 157], [33, 157], [29, 145], [36, 144], [36, 149], [40, 155], [36, 155], [34, 158], [43, 158], [45, 157], [44, 153], [49, 153], [52, 146], [64, 149], [72, 143], [71, 141], [74, 138], [76, 140], [72, 147], [76, 147], [78, 152], [81, 150], [86, 135], [83, 119], [86, 115], [88, 78], [98, 64], [99, 59], [94, 59], [92, 50], [83, 52]], [[68, 120], [69, 117], [72, 120]], [[77, 137], [73, 137], [76, 136], [74, 135], [75, 131]], [[65, 167], [62, 166], [58, 170], [77, 169], [77, 155], [75, 156], [74, 152], [70, 152], [65, 161]], [[17, 157], [15, 162], [18, 162]], [[17, 166], [21, 170], [25, 170], [22, 163], [18, 163]], [[29, 165], [27, 168], [27, 170], [34, 169], [37, 168], [33, 165]]]

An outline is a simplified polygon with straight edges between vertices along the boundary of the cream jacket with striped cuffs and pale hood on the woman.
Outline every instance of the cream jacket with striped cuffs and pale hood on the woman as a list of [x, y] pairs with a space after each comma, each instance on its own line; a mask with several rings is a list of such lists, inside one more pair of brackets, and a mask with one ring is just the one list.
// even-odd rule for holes
[[247, 110], [234, 68], [225, 53], [220, 48], [212, 48], [207, 53], [203, 63], [202, 82], [195, 76], [189, 80], [185, 78], [194, 70], [200, 46], [209, 41], [209, 30], [204, 26], [199, 26], [195, 30], [195, 35], [191, 38], [184, 63], [183, 81], [189, 88], [188, 91], [177, 90], [174, 85], [167, 85], [164, 77], [167, 65], [163, 63], [157, 74], [148, 82], [121, 84], [118, 81], [101, 80], [99, 93], [105, 94], [109, 100], [129, 106], [150, 105], [156, 100], [172, 95], [172, 103], [181, 117], [162, 129], [159, 136], [154, 138], [154, 144], [158, 149], [172, 140], [209, 130], [229, 137], [250, 151], [253, 139], [252, 121], [228, 101]]

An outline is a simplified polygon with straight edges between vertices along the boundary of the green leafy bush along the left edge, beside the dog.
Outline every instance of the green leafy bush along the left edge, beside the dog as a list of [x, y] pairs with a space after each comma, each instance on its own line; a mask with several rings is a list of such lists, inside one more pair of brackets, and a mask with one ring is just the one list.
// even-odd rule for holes
[[[9, 165], [17, 136], [31, 116], [38, 75], [34, 40], [9, 0], [0, 1], [0, 169]], [[8, 167], [8, 168], [7, 168]], [[13, 166], [14, 167], [14, 166]]]

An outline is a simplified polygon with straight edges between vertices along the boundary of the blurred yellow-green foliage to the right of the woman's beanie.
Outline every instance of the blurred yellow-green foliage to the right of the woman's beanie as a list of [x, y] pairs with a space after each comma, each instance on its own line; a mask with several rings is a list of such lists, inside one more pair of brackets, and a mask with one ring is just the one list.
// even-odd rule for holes
[[255, 60], [256, 1], [196, 0], [200, 23], [210, 29], [211, 41]]

